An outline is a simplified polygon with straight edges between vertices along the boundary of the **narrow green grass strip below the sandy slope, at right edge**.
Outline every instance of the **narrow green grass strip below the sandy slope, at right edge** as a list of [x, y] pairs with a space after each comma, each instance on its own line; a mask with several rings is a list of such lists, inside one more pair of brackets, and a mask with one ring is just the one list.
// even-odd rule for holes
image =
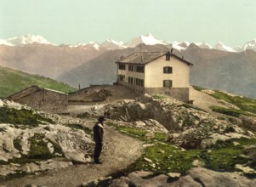
[[234, 116], [234, 117], [239, 117], [239, 116], [253, 116], [256, 117], [256, 115], [249, 113], [247, 111], [242, 111], [242, 110], [237, 110], [237, 109], [229, 109], [229, 108], [224, 108], [224, 107], [219, 107], [219, 106], [211, 106], [210, 109], [212, 111], [225, 114], [228, 116]]

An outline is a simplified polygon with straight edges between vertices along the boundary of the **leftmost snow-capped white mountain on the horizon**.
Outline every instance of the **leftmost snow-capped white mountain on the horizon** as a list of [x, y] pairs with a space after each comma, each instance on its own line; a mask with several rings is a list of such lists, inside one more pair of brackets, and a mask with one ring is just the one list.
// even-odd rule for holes
[[22, 37], [11, 37], [7, 40], [0, 40], [0, 45], [20, 46], [27, 44], [51, 44], [44, 37], [27, 34]]

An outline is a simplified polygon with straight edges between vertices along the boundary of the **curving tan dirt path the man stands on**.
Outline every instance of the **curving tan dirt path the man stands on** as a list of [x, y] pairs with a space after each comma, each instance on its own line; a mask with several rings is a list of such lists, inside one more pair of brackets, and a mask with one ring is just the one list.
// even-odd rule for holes
[[92, 179], [108, 176], [120, 171], [133, 161], [142, 152], [142, 142], [117, 132], [113, 127], [105, 127], [105, 145], [101, 156], [102, 165], [93, 163], [77, 165], [63, 170], [50, 171], [37, 176], [14, 178], [0, 184], [5, 186], [80, 186]]

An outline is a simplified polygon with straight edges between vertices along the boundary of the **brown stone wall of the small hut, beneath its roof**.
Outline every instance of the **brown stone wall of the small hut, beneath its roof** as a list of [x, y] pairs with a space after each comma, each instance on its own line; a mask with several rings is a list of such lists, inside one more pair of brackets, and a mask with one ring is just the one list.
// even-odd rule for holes
[[41, 111], [64, 112], [67, 110], [67, 94], [44, 88], [14, 101]]

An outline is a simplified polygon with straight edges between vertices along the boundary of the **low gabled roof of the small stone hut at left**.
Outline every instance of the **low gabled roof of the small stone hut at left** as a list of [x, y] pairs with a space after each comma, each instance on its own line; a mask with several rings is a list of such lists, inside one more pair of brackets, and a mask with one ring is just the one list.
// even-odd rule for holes
[[17, 92], [15, 94], [10, 95], [7, 99], [15, 101], [17, 99], [25, 97], [26, 95], [30, 95], [30, 94], [33, 94], [35, 92], [41, 91], [41, 90], [48, 90], [48, 91], [59, 93], [59, 94], [65, 94], [65, 93], [62, 93], [62, 92], [59, 92], [59, 91], [56, 91], [56, 90], [53, 90], [53, 89], [40, 88], [37, 85], [33, 85], [29, 88], [25, 88], [25, 89], [21, 90], [20, 92]]

